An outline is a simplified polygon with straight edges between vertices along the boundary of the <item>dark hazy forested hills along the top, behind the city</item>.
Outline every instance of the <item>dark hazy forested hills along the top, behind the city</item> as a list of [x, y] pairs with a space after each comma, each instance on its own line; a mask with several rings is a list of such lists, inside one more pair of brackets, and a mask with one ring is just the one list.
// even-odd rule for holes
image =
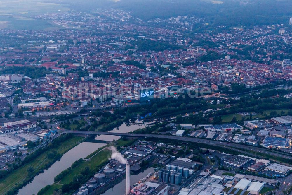
[[[287, 24], [291, 16], [291, 0], [60, 0], [72, 7], [87, 10], [114, 8], [131, 11], [142, 20], [168, 18], [178, 15], [196, 15], [210, 25], [251, 26]], [[224, 3], [220, 3], [223, 1]]]

